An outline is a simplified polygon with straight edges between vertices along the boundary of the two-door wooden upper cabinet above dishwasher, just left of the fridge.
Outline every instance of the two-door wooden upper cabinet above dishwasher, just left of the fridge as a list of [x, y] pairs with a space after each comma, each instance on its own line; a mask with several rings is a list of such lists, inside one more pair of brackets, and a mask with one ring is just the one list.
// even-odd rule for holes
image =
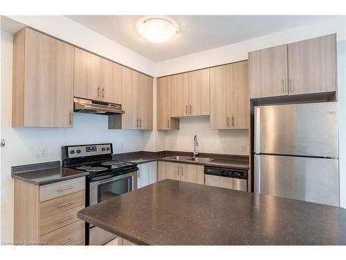
[[248, 129], [248, 61], [210, 68], [210, 128]]

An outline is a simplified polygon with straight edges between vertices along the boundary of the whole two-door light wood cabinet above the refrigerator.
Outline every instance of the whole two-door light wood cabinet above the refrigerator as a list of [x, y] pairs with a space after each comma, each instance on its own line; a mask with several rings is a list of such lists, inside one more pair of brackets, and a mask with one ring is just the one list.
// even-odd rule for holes
[[250, 97], [336, 93], [336, 34], [249, 53]]

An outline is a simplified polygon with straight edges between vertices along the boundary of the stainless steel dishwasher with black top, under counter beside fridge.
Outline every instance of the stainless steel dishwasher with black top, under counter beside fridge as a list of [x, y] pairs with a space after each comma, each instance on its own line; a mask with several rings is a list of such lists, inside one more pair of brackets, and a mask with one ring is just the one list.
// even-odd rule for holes
[[205, 166], [204, 179], [209, 186], [248, 191], [248, 171]]

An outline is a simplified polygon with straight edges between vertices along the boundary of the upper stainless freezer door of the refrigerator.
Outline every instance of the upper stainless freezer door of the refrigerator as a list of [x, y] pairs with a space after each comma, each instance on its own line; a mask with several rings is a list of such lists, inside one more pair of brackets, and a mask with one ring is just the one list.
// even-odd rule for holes
[[256, 107], [255, 153], [338, 157], [336, 103]]

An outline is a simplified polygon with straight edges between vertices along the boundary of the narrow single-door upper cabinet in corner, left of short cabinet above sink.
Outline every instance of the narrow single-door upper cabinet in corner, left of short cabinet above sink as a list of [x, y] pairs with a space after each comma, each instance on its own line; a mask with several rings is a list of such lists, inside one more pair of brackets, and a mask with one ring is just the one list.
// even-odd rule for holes
[[179, 119], [170, 116], [172, 77], [157, 79], [157, 129], [179, 129]]

